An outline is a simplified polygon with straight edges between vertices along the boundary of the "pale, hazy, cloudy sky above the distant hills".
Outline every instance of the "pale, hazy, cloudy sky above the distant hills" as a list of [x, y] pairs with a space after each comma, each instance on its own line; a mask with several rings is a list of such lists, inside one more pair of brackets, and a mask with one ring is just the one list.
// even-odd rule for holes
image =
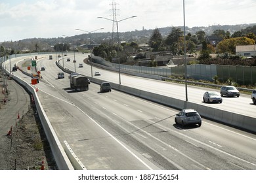
[[184, 7], [183, 0], [1, 0], [0, 42], [112, 32], [113, 12], [115, 32], [116, 23], [119, 32], [256, 23], [256, 0], [184, 0]]

